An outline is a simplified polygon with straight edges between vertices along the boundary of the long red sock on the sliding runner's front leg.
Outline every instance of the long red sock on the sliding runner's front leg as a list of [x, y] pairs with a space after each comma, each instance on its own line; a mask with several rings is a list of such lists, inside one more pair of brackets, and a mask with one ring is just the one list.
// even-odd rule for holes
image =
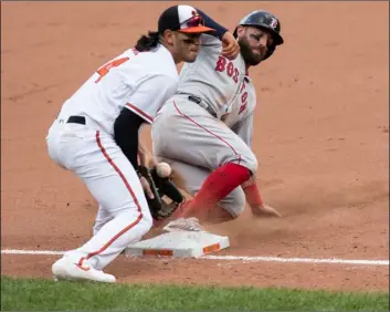
[[[208, 210], [229, 195], [234, 188], [246, 181], [251, 171], [243, 166], [229, 163], [214, 170], [203, 183], [199, 193], [193, 198], [192, 205], [197, 209]], [[191, 205], [191, 206], [192, 206]]]

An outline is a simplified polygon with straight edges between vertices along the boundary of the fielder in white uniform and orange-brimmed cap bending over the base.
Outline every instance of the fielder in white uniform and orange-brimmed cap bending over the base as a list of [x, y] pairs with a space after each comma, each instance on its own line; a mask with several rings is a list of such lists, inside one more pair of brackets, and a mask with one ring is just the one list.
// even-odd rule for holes
[[62, 106], [46, 136], [49, 155], [84, 181], [99, 207], [94, 236], [52, 266], [54, 279], [115, 282], [102, 269], [152, 226], [145, 193], [154, 195], [138, 175], [139, 128], [177, 91], [176, 64], [196, 60], [201, 33], [222, 40], [228, 58], [238, 55], [233, 34], [208, 22], [217, 24], [189, 6], [167, 9], [157, 32], [99, 67]]

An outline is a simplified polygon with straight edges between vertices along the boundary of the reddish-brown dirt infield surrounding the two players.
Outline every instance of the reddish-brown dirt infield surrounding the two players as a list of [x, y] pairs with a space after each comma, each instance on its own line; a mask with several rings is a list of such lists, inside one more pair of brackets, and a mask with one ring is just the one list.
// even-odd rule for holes
[[[175, 2], [1, 2], [2, 249], [65, 250], [88, 239], [96, 205], [49, 158], [62, 103], [99, 65], [156, 29]], [[188, 2], [233, 29], [273, 11], [285, 45], [251, 71], [254, 152], [278, 220], [214, 227], [221, 254], [389, 259], [389, 3]], [[143, 138], [150, 146], [149, 133]], [[53, 257], [4, 256], [2, 274], [50, 277]], [[122, 282], [388, 290], [388, 267], [118, 259]]]

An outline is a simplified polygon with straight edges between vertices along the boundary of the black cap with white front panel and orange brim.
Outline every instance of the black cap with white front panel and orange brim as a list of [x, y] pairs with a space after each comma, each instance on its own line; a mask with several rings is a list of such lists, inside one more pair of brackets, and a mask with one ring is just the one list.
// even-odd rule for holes
[[214, 31], [204, 27], [203, 18], [190, 6], [173, 6], [165, 10], [158, 19], [158, 32], [162, 34], [167, 29], [183, 33]]

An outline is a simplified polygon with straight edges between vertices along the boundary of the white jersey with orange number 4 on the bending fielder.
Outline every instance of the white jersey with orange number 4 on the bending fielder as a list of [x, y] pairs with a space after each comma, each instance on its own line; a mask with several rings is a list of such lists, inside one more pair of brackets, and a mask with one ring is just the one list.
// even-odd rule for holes
[[176, 92], [178, 79], [173, 58], [164, 45], [154, 52], [129, 49], [98, 69], [64, 103], [61, 115], [87, 116], [114, 135], [114, 122], [124, 107], [151, 123]]

